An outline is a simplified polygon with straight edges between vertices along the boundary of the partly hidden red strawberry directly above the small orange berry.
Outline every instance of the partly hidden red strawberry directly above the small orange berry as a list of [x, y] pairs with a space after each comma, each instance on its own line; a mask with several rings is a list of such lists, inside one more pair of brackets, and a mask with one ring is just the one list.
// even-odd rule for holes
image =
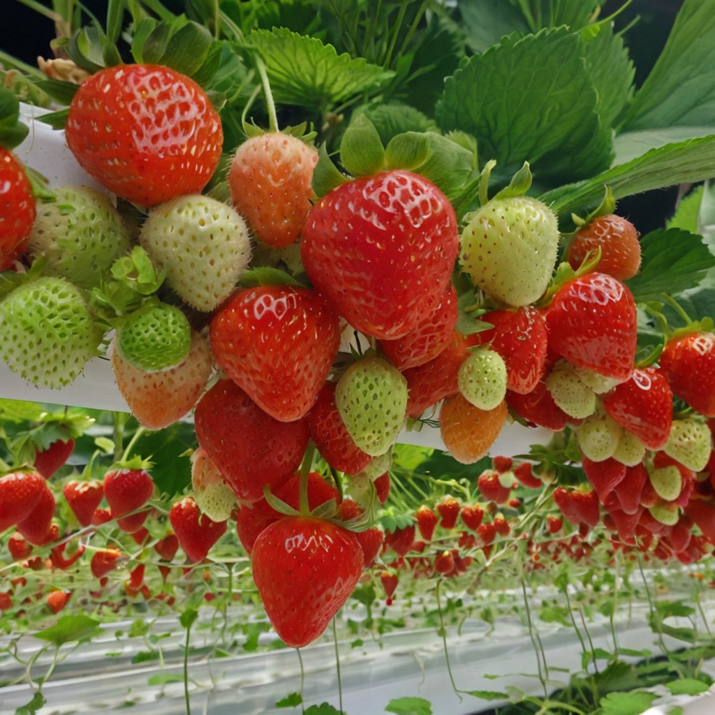
[[459, 368], [468, 356], [467, 345], [459, 332], [452, 341], [429, 363], [409, 368], [403, 373], [410, 391], [407, 415], [418, 418], [427, 408], [459, 392]]

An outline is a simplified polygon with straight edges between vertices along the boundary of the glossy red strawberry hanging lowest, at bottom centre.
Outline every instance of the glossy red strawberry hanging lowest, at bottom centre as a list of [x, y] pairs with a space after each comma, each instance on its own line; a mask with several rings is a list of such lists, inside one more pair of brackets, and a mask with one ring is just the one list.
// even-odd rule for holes
[[289, 516], [257, 538], [252, 574], [268, 618], [288, 646], [300, 648], [325, 631], [363, 573], [363, 552], [340, 526]]

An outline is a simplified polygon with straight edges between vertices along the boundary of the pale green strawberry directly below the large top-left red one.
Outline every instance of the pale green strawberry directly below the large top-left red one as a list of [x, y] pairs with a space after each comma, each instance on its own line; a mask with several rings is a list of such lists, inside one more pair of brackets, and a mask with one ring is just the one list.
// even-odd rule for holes
[[55, 202], [37, 205], [29, 254], [44, 254], [50, 275], [98, 287], [114, 260], [129, 252], [129, 230], [104, 194], [75, 186], [54, 191]]

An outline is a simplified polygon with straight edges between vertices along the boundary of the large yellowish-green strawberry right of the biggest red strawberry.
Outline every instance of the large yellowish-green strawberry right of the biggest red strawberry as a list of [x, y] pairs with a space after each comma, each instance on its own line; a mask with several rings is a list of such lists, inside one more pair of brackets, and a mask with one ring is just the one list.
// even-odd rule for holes
[[538, 199], [492, 199], [462, 232], [460, 265], [499, 302], [528, 305], [548, 287], [558, 236], [556, 215]]

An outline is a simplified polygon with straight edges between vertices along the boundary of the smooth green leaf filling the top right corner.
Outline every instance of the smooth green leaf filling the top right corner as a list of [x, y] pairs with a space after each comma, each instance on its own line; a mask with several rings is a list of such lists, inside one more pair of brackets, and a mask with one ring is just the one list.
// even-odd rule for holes
[[685, 0], [623, 128], [715, 126], [715, 6]]

